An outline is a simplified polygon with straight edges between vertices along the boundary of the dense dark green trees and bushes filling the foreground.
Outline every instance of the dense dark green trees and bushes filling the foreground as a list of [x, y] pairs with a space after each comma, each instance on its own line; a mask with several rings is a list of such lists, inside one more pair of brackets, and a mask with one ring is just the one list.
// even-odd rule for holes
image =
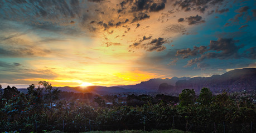
[[[255, 131], [254, 94], [212, 95], [209, 89], [202, 88], [196, 99], [193, 89], [185, 89], [179, 95], [179, 104], [174, 96], [133, 94], [124, 97], [125, 105], [118, 104], [122, 99], [117, 95], [76, 94], [89, 100], [68, 101], [60, 98], [61, 92], [46, 81], [40, 81], [39, 85], [38, 88], [30, 85], [26, 94], [15, 87], [1, 89], [1, 132], [83, 132], [89, 131], [90, 127], [94, 131], [180, 129], [223, 132], [224, 125], [226, 132]], [[106, 105], [110, 100], [113, 104]]]

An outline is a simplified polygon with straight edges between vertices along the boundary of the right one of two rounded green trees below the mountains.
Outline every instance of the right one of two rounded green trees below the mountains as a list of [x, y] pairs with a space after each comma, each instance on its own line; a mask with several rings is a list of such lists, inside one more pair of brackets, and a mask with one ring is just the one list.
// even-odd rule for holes
[[199, 102], [201, 105], [210, 105], [210, 103], [212, 102], [212, 93], [209, 88], [201, 89], [197, 102]]

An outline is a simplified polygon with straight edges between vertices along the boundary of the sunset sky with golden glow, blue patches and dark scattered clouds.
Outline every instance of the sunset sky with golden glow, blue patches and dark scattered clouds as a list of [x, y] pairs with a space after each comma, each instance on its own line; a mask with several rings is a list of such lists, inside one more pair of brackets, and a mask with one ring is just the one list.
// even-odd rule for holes
[[0, 84], [131, 85], [256, 68], [256, 2], [0, 1]]

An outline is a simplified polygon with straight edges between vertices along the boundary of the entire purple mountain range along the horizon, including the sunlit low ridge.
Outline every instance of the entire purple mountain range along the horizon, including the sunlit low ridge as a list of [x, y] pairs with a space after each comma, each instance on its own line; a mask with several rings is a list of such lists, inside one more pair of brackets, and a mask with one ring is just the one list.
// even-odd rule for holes
[[[244, 68], [228, 71], [222, 75], [212, 75], [210, 77], [173, 77], [171, 79], [150, 79], [142, 81], [136, 85], [119, 85], [119, 86], [88, 86], [88, 87], [59, 87], [61, 91], [71, 91], [74, 93], [96, 93], [96, 94], [113, 94], [113, 93], [146, 93], [160, 92], [178, 94], [183, 89], [194, 89], [197, 94], [205, 87], [209, 88], [212, 93], [228, 93], [234, 91], [255, 91], [256, 90], [256, 68]], [[56, 87], [54, 87], [56, 88]]]

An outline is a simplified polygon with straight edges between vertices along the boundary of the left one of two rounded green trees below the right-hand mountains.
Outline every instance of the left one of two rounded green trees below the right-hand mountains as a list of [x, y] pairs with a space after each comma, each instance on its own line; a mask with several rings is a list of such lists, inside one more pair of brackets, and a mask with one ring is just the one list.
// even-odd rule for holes
[[180, 99], [181, 106], [187, 106], [189, 104], [194, 104], [195, 102], [195, 91], [194, 89], [184, 89], [182, 93], [178, 95], [178, 99]]

